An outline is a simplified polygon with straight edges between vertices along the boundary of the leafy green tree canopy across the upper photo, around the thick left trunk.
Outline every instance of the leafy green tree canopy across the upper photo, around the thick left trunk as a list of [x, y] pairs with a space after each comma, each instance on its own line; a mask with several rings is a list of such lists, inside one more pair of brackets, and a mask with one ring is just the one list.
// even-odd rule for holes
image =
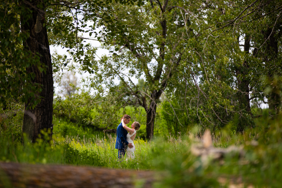
[[[269, 105], [270, 116], [279, 114], [280, 4], [81, 0], [38, 6], [46, 10], [43, 24], [50, 45], [69, 53], [53, 56], [54, 74], [65, 66], [88, 71], [85, 84], [97, 91], [94, 102], [106, 97], [112, 104], [109, 114], [127, 105], [143, 107], [147, 137], [152, 138], [163, 99], [185, 112], [185, 120], [177, 110], [169, 113], [180, 127], [184, 121], [215, 131], [233, 123], [242, 132], [253, 125], [251, 106], [262, 102]], [[46, 67], [23, 48], [29, 34], [20, 31], [24, 5], [4, 1], [1, 6], [1, 102], [29, 100], [34, 107], [42, 99], [34, 92], [42, 90], [25, 70]], [[97, 48], [87, 39], [100, 41], [110, 54], [97, 60]]]

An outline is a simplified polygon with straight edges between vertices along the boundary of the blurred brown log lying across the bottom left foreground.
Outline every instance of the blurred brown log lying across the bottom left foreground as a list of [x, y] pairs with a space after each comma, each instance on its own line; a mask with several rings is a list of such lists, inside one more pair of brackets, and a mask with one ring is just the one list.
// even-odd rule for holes
[[0, 163], [1, 188], [151, 187], [153, 181], [154, 175], [148, 171]]

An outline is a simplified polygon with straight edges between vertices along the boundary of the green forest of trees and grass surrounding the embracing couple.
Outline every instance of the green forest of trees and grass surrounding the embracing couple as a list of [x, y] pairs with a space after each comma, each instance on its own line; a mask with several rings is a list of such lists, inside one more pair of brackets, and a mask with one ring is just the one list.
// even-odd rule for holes
[[[252, 154], [247, 164], [252, 168], [227, 164], [216, 173], [238, 167], [243, 171], [228, 173], [257, 175], [261, 178], [246, 178], [256, 185], [279, 179], [280, 173], [259, 173], [265, 164], [269, 170], [281, 164], [280, 1], [5, 0], [0, 6], [1, 160], [147, 170], [165, 166], [182, 173], [197, 160], [186, 161], [187, 147], [210, 129], [214, 146], [243, 144]], [[97, 58], [89, 40], [109, 53]], [[51, 56], [49, 45], [67, 49], [66, 54]], [[75, 73], [85, 72], [78, 87]], [[59, 95], [54, 95], [54, 82], [62, 88]], [[133, 167], [114, 160], [112, 137], [123, 114], [141, 124], [136, 142], [144, 150], [138, 159], [151, 162]], [[150, 142], [154, 137], [167, 141], [160, 148], [170, 148], [159, 161], [181, 156], [181, 164], [156, 162], [161, 150]], [[103, 140], [106, 145], [99, 150]], [[261, 144], [259, 149], [251, 140]], [[50, 151], [57, 158], [46, 159], [50, 151], [40, 147], [44, 141], [52, 141]], [[145, 143], [152, 145], [148, 149]], [[270, 153], [261, 155], [261, 150]], [[210, 173], [212, 165], [200, 165], [196, 179]], [[194, 165], [189, 173], [199, 168]], [[183, 182], [194, 181], [179, 173]]]

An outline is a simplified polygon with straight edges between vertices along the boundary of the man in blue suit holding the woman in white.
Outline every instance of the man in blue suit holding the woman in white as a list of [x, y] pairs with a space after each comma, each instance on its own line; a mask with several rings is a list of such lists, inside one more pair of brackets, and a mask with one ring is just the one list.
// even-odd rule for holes
[[[128, 124], [130, 122], [130, 116], [125, 114], [123, 115], [123, 122]], [[129, 148], [133, 148], [133, 145], [126, 141], [127, 131], [123, 128], [123, 123], [120, 123], [117, 128], [117, 141], [116, 141], [116, 149], [118, 149], [118, 159], [121, 159], [126, 151], [126, 146]]]

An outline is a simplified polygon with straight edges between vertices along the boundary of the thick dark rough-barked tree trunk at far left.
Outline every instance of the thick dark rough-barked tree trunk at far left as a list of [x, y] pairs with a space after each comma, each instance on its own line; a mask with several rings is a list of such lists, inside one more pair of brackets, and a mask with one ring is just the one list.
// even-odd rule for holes
[[39, 137], [40, 131], [49, 131], [52, 135], [52, 114], [53, 114], [53, 76], [52, 63], [47, 37], [47, 29], [45, 27], [45, 13], [41, 1], [21, 1], [21, 6], [29, 9], [31, 12], [25, 11], [20, 16], [21, 31], [29, 32], [29, 37], [24, 41], [24, 50], [31, 51], [35, 56], [40, 57], [44, 71], [40, 71], [38, 65], [31, 65], [26, 68], [27, 74], [34, 74], [32, 83], [40, 84], [42, 91], [37, 93], [41, 98], [41, 102], [35, 108], [31, 108], [33, 101], [29, 99], [25, 104], [23, 133], [34, 142]]

